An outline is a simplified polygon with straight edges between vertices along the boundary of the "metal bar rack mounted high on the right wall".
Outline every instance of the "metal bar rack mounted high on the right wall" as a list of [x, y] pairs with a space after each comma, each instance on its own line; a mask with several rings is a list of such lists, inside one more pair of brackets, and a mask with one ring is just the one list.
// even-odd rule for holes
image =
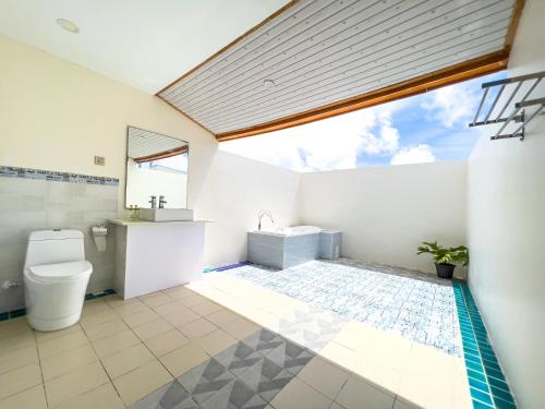
[[[545, 97], [530, 99], [531, 97], [533, 97], [532, 93], [542, 82], [544, 76], [545, 76], [545, 71], [542, 71], [534, 74], [521, 75], [512, 79], [498, 80], [484, 83], [482, 85], [482, 88], [484, 89], [483, 97], [481, 98], [481, 103], [479, 104], [475, 118], [473, 119], [473, 122], [471, 122], [469, 125], [481, 127], [481, 125], [502, 122], [504, 124], [499, 128], [499, 130], [496, 132], [494, 136], [491, 136], [491, 140], [493, 141], [505, 140], [509, 137], [520, 137], [521, 141], [524, 140], [524, 128], [530, 123], [530, 121], [532, 121], [538, 115], [545, 113], [544, 111]], [[494, 95], [494, 92], [496, 89], [497, 92], [496, 95], [494, 96], [494, 99], [492, 100], [489, 109], [484, 116], [484, 119], [480, 120], [481, 111], [483, 110], [485, 101], [487, 101], [488, 95]], [[517, 100], [516, 96], [519, 94], [522, 97], [517, 103], [514, 103], [514, 107], [511, 108], [510, 115], [505, 117], [504, 113], [512, 105], [513, 100]], [[497, 110], [496, 107], [501, 96], [504, 96], [504, 99], [501, 101], [502, 108], [499, 109], [499, 112], [497, 115], [493, 116], [493, 111], [495, 109]], [[525, 109], [528, 109], [529, 107], [537, 107], [537, 108], [528, 115], [525, 112]], [[501, 133], [511, 122], [518, 123], [519, 125], [512, 132]]]

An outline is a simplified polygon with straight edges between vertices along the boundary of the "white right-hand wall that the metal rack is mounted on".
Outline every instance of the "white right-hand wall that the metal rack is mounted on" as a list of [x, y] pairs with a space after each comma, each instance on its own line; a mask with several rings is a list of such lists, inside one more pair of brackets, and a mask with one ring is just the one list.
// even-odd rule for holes
[[[544, 1], [526, 0], [509, 76], [545, 70], [544, 16]], [[543, 408], [545, 118], [523, 142], [488, 136], [469, 160], [470, 286], [520, 407]]]

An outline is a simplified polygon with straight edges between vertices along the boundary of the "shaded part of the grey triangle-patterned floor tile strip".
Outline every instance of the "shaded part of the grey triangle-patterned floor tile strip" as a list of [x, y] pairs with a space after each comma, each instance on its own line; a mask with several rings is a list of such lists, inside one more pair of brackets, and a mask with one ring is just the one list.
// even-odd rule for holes
[[263, 409], [314, 356], [262, 328], [131, 408]]

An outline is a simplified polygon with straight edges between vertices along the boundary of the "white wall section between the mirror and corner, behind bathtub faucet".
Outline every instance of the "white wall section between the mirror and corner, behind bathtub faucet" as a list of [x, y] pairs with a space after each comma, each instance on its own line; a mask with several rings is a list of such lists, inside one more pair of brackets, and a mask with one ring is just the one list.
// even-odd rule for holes
[[257, 228], [259, 209], [270, 210], [277, 227], [296, 225], [299, 180], [298, 172], [218, 151], [196, 205], [199, 218], [215, 220], [206, 228], [208, 266], [246, 260], [246, 232]]

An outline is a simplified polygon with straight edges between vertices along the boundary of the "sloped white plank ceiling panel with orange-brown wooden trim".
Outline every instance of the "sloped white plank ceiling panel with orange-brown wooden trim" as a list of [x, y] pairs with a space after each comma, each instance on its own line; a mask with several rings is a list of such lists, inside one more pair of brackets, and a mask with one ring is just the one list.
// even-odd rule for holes
[[522, 0], [302, 0], [157, 96], [219, 141], [507, 67]]

